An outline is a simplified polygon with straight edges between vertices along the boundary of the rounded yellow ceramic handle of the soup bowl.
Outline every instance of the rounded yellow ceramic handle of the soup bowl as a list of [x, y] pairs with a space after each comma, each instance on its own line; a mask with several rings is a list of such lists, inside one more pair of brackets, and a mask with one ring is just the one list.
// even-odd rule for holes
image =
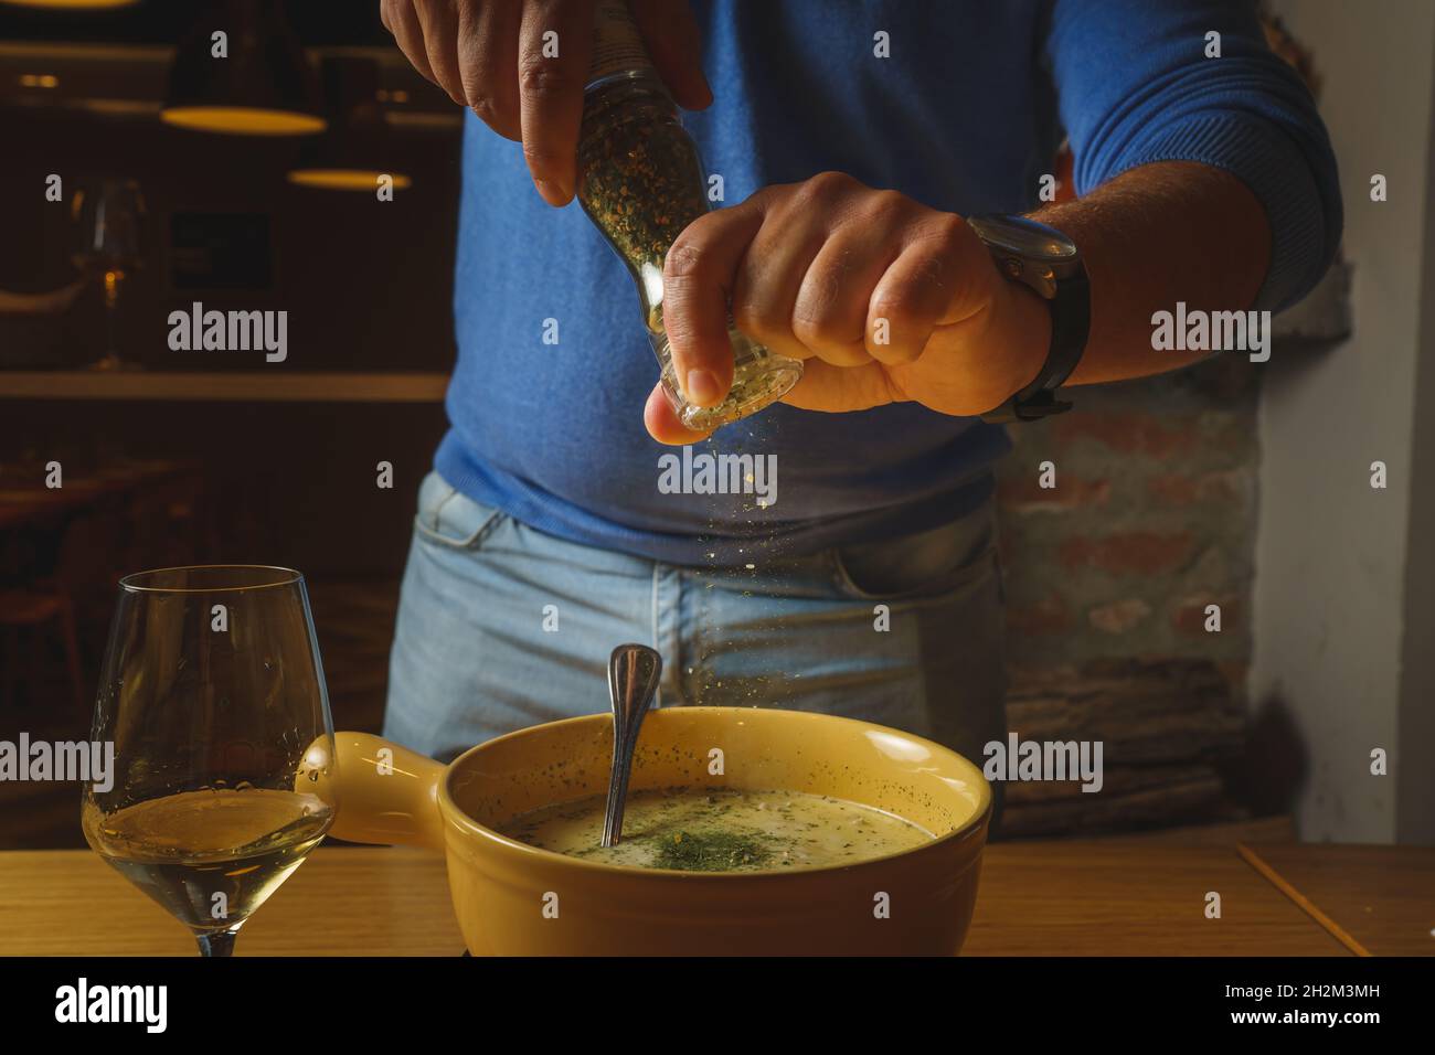
[[366, 732], [336, 732], [334, 744], [337, 788], [329, 791], [337, 795], [329, 801], [339, 810], [330, 835], [443, 850], [439, 781], [446, 765]]

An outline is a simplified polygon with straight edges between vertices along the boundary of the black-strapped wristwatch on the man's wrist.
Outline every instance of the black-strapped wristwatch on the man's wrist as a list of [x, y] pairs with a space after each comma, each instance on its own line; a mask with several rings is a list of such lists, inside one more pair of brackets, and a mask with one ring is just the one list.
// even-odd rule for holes
[[1052, 313], [1052, 343], [1036, 380], [1002, 406], [982, 415], [986, 422], [1040, 421], [1072, 409], [1056, 398], [1086, 350], [1091, 332], [1091, 286], [1075, 243], [1055, 227], [1017, 215], [967, 217], [1002, 274], [1035, 290]]

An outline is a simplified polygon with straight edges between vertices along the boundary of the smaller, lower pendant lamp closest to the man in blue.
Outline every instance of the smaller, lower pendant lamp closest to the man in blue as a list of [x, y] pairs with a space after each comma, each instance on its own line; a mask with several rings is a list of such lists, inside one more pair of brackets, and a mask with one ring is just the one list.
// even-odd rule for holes
[[324, 100], [329, 131], [304, 144], [288, 181], [329, 191], [369, 191], [387, 175], [393, 188], [410, 185], [408, 175], [387, 165], [393, 136], [379, 109], [379, 63], [373, 59], [324, 59]]

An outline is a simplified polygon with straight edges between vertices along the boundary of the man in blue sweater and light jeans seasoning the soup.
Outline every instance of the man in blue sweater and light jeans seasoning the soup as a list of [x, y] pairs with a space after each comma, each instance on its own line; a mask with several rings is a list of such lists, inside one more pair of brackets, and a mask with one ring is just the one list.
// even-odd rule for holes
[[[725, 396], [729, 306], [805, 362], [785, 405], [692, 454], [763, 458], [781, 487], [766, 507], [659, 487], [662, 445], [703, 436], [654, 388], [631, 283], [571, 204], [591, 0], [385, 0], [472, 113], [452, 429], [420, 489], [386, 735], [451, 758], [601, 711], [610, 649], [637, 640], [663, 653], [664, 706], [821, 709], [980, 759], [1006, 729], [1009, 449], [980, 415], [1192, 362], [1152, 350], [1178, 301], [1299, 300], [1342, 222], [1312, 100], [1236, 0], [631, 9], [733, 202], [667, 255], [683, 390]], [[1081, 198], [1038, 208], [1063, 135]], [[1013, 276], [1046, 264], [1012, 255], [1045, 250], [966, 220], [1022, 212], [1075, 245], [1085, 284], [1039, 293]]]

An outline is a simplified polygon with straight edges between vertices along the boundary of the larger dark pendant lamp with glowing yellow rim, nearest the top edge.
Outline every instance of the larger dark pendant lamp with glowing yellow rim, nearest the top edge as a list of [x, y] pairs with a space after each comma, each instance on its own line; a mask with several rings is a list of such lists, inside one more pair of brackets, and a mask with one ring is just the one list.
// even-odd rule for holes
[[[278, 0], [224, 0], [201, 10], [175, 50], [159, 112], [165, 123], [231, 135], [324, 129], [313, 70]], [[221, 30], [225, 57], [214, 53]]]

